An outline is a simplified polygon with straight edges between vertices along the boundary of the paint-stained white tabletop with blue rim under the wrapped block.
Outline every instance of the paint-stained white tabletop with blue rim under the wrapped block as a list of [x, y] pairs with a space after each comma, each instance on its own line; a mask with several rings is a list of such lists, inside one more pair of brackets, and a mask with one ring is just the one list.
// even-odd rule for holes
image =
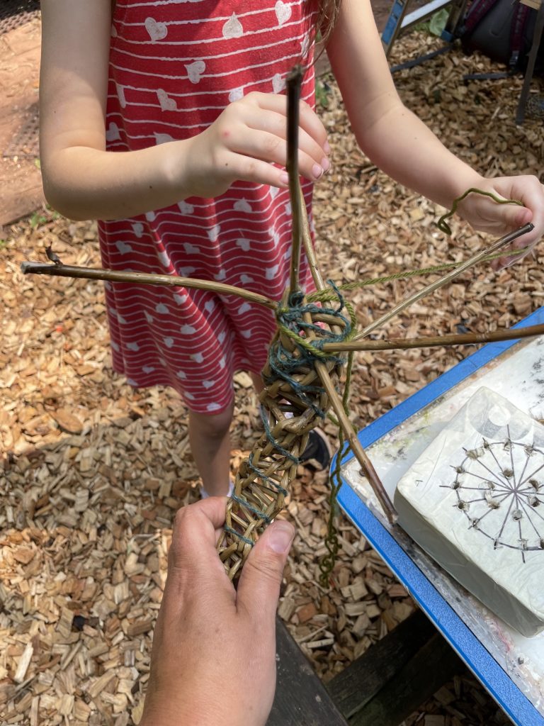
[[[544, 308], [514, 327], [541, 322]], [[544, 338], [484, 346], [360, 431], [391, 498], [404, 471], [482, 385], [544, 418]], [[391, 526], [353, 455], [342, 461], [341, 472], [340, 507], [474, 676], [514, 724], [544, 726], [544, 632], [519, 635]]]

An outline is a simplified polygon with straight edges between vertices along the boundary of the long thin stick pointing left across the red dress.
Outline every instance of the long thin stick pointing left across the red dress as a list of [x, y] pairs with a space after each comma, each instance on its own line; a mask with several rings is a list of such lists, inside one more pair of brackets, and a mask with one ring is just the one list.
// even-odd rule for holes
[[101, 269], [98, 267], [79, 267], [76, 265], [49, 264], [42, 262], [22, 262], [22, 274], [47, 274], [55, 277], [78, 277], [83, 280], [106, 280], [107, 282], [136, 282], [144, 285], [162, 285], [164, 287], [191, 287], [196, 290], [208, 290], [218, 295], [237, 295], [252, 303], [264, 305], [276, 310], [278, 303], [259, 293], [244, 290], [243, 287], [225, 285], [224, 282], [197, 280], [194, 277], [177, 277], [171, 274], [153, 274], [148, 272], [126, 272], [124, 270]]

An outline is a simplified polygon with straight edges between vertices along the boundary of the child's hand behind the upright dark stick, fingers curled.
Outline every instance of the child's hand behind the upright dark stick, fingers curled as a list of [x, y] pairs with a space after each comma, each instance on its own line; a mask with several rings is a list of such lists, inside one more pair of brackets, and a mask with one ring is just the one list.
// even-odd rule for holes
[[[189, 139], [186, 179], [190, 195], [217, 197], [238, 180], [287, 187], [287, 97], [252, 92], [231, 103], [202, 134]], [[329, 168], [326, 131], [300, 103], [299, 169], [319, 179]]]

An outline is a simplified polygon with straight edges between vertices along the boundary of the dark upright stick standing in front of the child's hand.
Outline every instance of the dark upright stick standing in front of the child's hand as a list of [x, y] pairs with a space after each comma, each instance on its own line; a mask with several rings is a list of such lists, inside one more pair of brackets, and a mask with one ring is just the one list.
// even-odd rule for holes
[[289, 295], [300, 290], [300, 244], [301, 212], [298, 174], [298, 126], [300, 123], [300, 86], [302, 68], [296, 65], [287, 76], [287, 174], [289, 175], [289, 197], [292, 215], [291, 271], [289, 273]]

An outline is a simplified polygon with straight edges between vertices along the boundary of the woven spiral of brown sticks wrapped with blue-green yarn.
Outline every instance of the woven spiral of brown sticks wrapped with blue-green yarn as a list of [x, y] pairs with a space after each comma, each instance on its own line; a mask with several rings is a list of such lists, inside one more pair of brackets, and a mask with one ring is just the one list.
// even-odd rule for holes
[[321, 351], [323, 343], [347, 340], [353, 331], [342, 314], [342, 296], [337, 295], [337, 309], [318, 307], [294, 293], [277, 311], [279, 330], [263, 370], [265, 389], [260, 395], [264, 433], [236, 473], [218, 541], [231, 579], [239, 575], [257, 537], [284, 508], [308, 435], [329, 409], [316, 361], [326, 366], [335, 387], [342, 375], [342, 358]]

